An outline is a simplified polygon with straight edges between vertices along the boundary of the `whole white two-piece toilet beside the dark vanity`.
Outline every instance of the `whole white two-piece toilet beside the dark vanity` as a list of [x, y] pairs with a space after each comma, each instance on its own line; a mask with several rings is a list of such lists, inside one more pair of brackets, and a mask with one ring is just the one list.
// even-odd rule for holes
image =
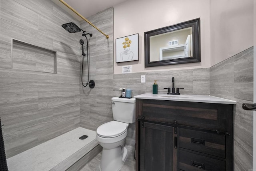
[[135, 122], [135, 99], [112, 97], [114, 121], [104, 123], [97, 128], [96, 139], [102, 149], [101, 171], [118, 171], [127, 157], [124, 142], [129, 123]]

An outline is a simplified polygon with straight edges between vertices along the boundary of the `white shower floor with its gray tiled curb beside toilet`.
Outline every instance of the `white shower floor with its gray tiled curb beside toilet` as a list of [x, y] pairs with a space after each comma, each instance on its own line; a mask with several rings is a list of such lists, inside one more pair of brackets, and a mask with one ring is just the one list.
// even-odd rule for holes
[[[88, 135], [86, 139], [79, 139]], [[7, 159], [9, 171], [80, 170], [102, 151], [96, 132], [82, 127]]]

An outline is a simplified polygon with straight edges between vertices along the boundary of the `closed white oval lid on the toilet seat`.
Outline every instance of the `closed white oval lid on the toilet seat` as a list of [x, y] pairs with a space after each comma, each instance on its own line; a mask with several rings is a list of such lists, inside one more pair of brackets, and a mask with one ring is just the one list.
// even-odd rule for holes
[[110, 121], [97, 128], [97, 134], [101, 137], [117, 137], [127, 130], [127, 123]]

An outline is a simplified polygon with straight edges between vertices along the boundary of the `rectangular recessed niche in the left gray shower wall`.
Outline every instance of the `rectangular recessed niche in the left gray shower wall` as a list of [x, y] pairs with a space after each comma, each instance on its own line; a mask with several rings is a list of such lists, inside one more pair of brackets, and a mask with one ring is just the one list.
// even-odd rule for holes
[[12, 69], [57, 73], [57, 52], [12, 39]]

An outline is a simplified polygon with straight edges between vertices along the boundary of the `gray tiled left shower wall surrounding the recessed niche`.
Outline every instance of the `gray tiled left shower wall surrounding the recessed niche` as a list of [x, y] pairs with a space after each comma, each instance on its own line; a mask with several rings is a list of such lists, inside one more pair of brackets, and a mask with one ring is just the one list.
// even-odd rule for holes
[[[0, 0], [0, 116], [7, 158], [79, 127], [80, 24], [51, 0]], [[12, 68], [12, 38], [57, 52], [57, 74], [28, 71], [32, 58]], [[31, 48], [31, 47], [29, 47]], [[46, 65], [48, 66], [48, 65]], [[43, 67], [43, 65], [41, 66]], [[46, 68], [46, 70], [48, 70]]]

